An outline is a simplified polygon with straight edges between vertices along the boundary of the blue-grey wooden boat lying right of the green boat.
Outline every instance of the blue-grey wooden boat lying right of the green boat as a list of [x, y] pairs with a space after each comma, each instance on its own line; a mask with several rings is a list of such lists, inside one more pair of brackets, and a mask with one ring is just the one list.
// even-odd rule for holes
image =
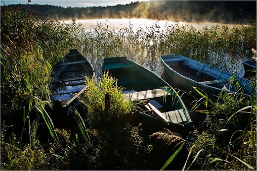
[[[245, 87], [243, 89], [245, 96], [250, 96], [252, 93], [253, 88], [250, 80], [232, 75], [205, 63], [180, 55], [163, 55], [160, 56], [160, 59], [165, 74], [169, 75], [164, 79], [172, 87], [187, 93], [191, 92], [194, 96], [199, 96], [199, 93], [192, 87], [202, 90], [213, 100], [217, 99], [222, 90], [235, 93], [235, 81], [233, 79], [236, 79], [241, 87]], [[242, 92], [237, 91], [237, 93], [241, 94]]]

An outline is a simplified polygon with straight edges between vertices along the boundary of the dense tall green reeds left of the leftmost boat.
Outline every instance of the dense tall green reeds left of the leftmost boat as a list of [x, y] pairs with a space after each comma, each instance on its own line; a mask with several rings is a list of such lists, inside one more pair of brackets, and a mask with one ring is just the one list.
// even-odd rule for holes
[[[50, 93], [51, 66], [69, 49], [80, 47], [77, 33], [82, 30], [76, 24], [39, 20], [32, 11], [26, 13], [21, 8], [1, 6], [0, 17], [1, 133], [6, 132], [1, 138], [1, 170], [52, 170], [47, 163], [54, 161], [53, 156], [46, 155], [36, 139], [39, 124], [33, 119], [40, 112], [53, 138], [49, 142], [58, 142], [43, 102]], [[33, 97], [38, 99], [34, 107], [30, 102]], [[29, 132], [29, 145], [23, 138], [24, 130]]]

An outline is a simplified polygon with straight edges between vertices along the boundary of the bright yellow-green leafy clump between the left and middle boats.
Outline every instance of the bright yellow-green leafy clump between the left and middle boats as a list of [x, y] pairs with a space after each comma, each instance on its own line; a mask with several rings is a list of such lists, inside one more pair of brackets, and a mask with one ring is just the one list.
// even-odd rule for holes
[[[87, 90], [85, 104], [87, 118], [91, 128], [103, 124], [104, 126], [123, 126], [122, 117], [131, 113], [131, 103], [125, 100], [122, 88], [118, 87], [117, 80], [102, 73], [100, 80], [86, 78]], [[114, 119], [115, 121], [110, 121]], [[111, 125], [112, 124], [112, 125]]]

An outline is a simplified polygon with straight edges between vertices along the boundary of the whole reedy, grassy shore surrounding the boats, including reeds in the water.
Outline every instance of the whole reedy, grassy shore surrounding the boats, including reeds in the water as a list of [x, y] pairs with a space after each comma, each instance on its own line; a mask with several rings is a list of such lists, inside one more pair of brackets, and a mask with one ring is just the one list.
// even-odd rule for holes
[[[236, 73], [257, 46], [256, 22], [233, 29], [132, 28], [131, 24], [116, 31], [99, 23], [86, 32], [75, 22], [42, 21], [33, 13], [1, 7], [1, 170], [160, 170], [167, 161], [171, 162], [167, 170], [256, 170], [253, 96], [227, 94], [216, 102], [199, 101], [207, 109], [204, 113], [201, 109], [200, 121], [196, 113], [200, 109], [192, 111], [198, 126], [192, 132], [194, 141], [188, 141], [165, 130], [144, 131], [143, 125], [133, 122], [132, 104], [119, 103], [121, 90], [106, 77], [101, 89], [96, 80], [87, 80], [90, 88], [83, 101], [87, 110], [76, 112], [67, 125], [55, 122], [45, 97], [50, 93], [52, 66], [69, 49], [78, 49], [96, 71], [105, 57], [127, 56], [161, 75], [159, 55], [164, 54]], [[106, 114], [105, 91], [116, 101], [108, 116], [101, 117]]]

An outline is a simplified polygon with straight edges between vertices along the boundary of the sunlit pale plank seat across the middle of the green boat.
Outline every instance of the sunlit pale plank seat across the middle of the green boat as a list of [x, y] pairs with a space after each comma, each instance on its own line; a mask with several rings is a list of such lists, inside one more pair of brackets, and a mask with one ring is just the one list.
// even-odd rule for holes
[[143, 100], [143, 99], [152, 99], [155, 97], [162, 97], [166, 94], [167, 92], [163, 89], [153, 89], [153, 90], [128, 93], [126, 94], [126, 96], [128, 98], [131, 97], [131, 101], [133, 101], [133, 100]]

